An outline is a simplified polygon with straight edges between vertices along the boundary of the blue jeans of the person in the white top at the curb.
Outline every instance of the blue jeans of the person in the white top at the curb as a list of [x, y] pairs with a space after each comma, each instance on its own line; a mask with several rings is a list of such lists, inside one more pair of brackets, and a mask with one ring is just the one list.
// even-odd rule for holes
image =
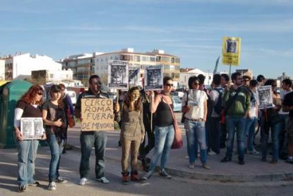
[[188, 141], [188, 157], [190, 164], [197, 158], [197, 148], [201, 148], [201, 163], [207, 161], [207, 146], [205, 144], [205, 121], [185, 120], [186, 139]]

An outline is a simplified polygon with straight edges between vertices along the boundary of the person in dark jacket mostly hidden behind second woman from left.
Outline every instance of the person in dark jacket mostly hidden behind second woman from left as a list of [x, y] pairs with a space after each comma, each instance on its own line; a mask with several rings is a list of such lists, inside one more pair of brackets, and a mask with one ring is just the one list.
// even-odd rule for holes
[[[74, 116], [74, 108], [73, 108], [73, 104], [72, 104], [72, 101], [71, 101], [71, 98], [69, 97], [69, 95], [66, 95], [65, 93], [65, 85], [64, 84], [59, 84], [60, 88], [61, 88], [61, 99], [63, 101], [63, 105], [64, 105], [64, 112], [65, 112], [65, 117], [66, 119], [68, 119], [68, 115], [71, 115], [72, 117]], [[68, 110], [70, 111], [70, 113], [68, 113]], [[68, 131], [68, 124], [65, 128], [65, 134], [64, 134], [64, 137], [65, 137], [65, 144], [67, 143], [67, 131]], [[63, 148], [63, 151], [62, 151], [63, 154], [66, 153], [66, 149], [65, 147]]]

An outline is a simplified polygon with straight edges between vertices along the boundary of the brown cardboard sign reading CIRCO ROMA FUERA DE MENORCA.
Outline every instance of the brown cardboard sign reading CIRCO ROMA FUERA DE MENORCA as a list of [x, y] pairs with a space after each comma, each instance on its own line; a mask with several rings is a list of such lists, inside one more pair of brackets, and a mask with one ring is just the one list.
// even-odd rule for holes
[[114, 130], [112, 99], [81, 99], [81, 131]]

